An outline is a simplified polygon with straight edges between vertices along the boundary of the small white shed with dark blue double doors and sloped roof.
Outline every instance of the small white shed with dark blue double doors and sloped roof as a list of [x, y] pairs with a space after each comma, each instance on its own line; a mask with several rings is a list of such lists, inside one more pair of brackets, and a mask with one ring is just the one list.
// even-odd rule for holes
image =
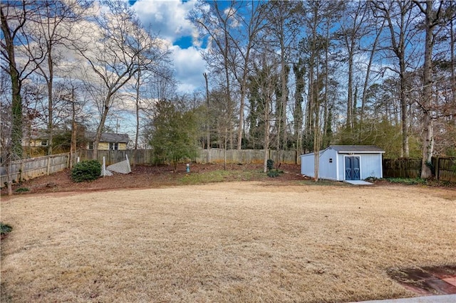
[[[383, 178], [382, 154], [371, 145], [330, 145], [320, 151], [318, 178], [336, 181]], [[315, 154], [302, 154], [301, 174], [314, 177]]]

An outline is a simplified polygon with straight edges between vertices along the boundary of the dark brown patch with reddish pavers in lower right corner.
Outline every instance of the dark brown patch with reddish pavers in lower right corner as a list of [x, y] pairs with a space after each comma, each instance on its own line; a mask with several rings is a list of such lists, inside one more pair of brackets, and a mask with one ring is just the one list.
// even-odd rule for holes
[[388, 275], [420, 295], [456, 294], [456, 265], [391, 269]]

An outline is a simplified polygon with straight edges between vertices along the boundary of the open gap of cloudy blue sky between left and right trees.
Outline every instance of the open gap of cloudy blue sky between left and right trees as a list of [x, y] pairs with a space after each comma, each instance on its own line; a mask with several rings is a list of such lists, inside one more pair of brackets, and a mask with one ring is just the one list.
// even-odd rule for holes
[[196, 0], [129, 0], [144, 26], [167, 41], [180, 92], [204, 87], [205, 63], [200, 55], [194, 26], [185, 17]]

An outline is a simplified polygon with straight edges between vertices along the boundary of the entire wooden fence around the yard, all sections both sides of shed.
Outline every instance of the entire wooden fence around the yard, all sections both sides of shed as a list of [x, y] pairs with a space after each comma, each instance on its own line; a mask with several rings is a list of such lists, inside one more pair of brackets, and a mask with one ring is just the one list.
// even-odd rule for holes
[[[79, 151], [80, 161], [92, 159], [93, 151]], [[152, 164], [153, 154], [150, 149], [128, 149], [121, 151], [98, 151], [98, 161], [103, 162], [105, 157], [106, 165], [125, 160], [128, 156], [130, 164]], [[285, 164], [299, 164], [299, 155], [296, 151], [269, 150], [268, 159], [273, 159]], [[224, 149], [199, 149], [197, 157], [190, 161], [206, 163], [223, 163], [225, 157]], [[262, 149], [229, 149], [226, 151], [227, 163], [261, 164], [264, 161], [264, 150]], [[63, 171], [70, 165], [70, 155], [54, 154], [51, 156], [39, 156], [31, 159], [23, 159], [11, 163], [10, 171], [14, 181], [33, 179]], [[432, 158], [432, 168], [435, 178], [441, 181], [456, 182], [456, 158]], [[1, 187], [6, 184], [6, 170], [1, 166]], [[383, 159], [384, 178], [419, 178], [421, 172], [421, 159]]]

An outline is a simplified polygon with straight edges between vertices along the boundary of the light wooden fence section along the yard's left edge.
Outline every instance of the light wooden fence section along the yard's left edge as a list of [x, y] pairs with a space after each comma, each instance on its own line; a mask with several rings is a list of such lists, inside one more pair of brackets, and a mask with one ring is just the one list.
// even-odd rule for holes
[[[15, 181], [33, 179], [38, 176], [48, 175], [63, 171], [70, 165], [70, 154], [53, 154], [51, 156], [38, 156], [36, 158], [22, 159], [11, 162], [9, 171]], [[8, 176], [4, 166], [0, 168], [1, 187], [5, 186]]]

